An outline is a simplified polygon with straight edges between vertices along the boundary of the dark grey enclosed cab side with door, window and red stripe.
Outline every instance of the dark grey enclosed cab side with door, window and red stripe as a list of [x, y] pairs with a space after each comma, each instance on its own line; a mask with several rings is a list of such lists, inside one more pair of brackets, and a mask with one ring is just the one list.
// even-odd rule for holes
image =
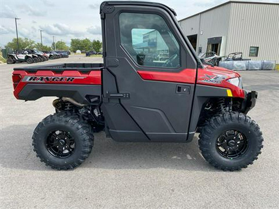
[[120, 141], [186, 141], [197, 64], [171, 11], [123, 2], [102, 11], [109, 133]]

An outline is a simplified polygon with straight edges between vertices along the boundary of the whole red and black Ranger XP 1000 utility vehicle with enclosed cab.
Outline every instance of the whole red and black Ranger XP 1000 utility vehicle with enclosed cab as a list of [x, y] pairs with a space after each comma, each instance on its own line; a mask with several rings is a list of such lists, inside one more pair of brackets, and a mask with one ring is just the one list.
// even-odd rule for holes
[[199, 132], [202, 155], [222, 170], [240, 170], [257, 159], [263, 137], [246, 115], [257, 92], [245, 91], [237, 72], [203, 64], [172, 9], [103, 2], [100, 16], [104, 64], [14, 69], [17, 99], [58, 97], [56, 112], [32, 137], [42, 162], [77, 167], [101, 130], [122, 142], [190, 142]]

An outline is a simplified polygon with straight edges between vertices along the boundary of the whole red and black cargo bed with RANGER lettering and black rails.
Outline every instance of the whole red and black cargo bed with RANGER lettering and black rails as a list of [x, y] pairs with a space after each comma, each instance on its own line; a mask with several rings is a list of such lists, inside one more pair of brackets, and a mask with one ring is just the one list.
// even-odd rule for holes
[[[100, 101], [102, 63], [62, 63], [15, 67], [14, 95], [22, 100], [44, 96], [70, 97], [88, 104]], [[98, 99], [96, 99], [98, 98]]]

